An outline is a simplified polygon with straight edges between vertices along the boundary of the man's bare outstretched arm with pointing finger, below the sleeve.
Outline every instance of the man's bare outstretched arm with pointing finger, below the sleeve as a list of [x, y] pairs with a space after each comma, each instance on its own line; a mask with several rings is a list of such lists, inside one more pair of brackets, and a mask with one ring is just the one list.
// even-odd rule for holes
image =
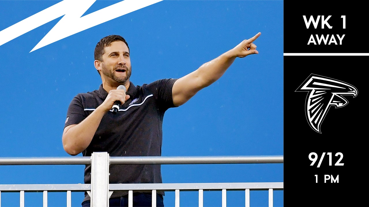
[[228, 50], [219, 57], [204, 63], [199, 69], [182, 78], [173, 85], [172, 96], [175, 106], [180, 106], [192, 98], [198, 91], [217, 81], [231, 66], [236, 57], [246, 57], [258, 54], [256, 45], [253, 43], [261, 35], [259, 32], [250, 39], [245, 39], [233, 49]]

